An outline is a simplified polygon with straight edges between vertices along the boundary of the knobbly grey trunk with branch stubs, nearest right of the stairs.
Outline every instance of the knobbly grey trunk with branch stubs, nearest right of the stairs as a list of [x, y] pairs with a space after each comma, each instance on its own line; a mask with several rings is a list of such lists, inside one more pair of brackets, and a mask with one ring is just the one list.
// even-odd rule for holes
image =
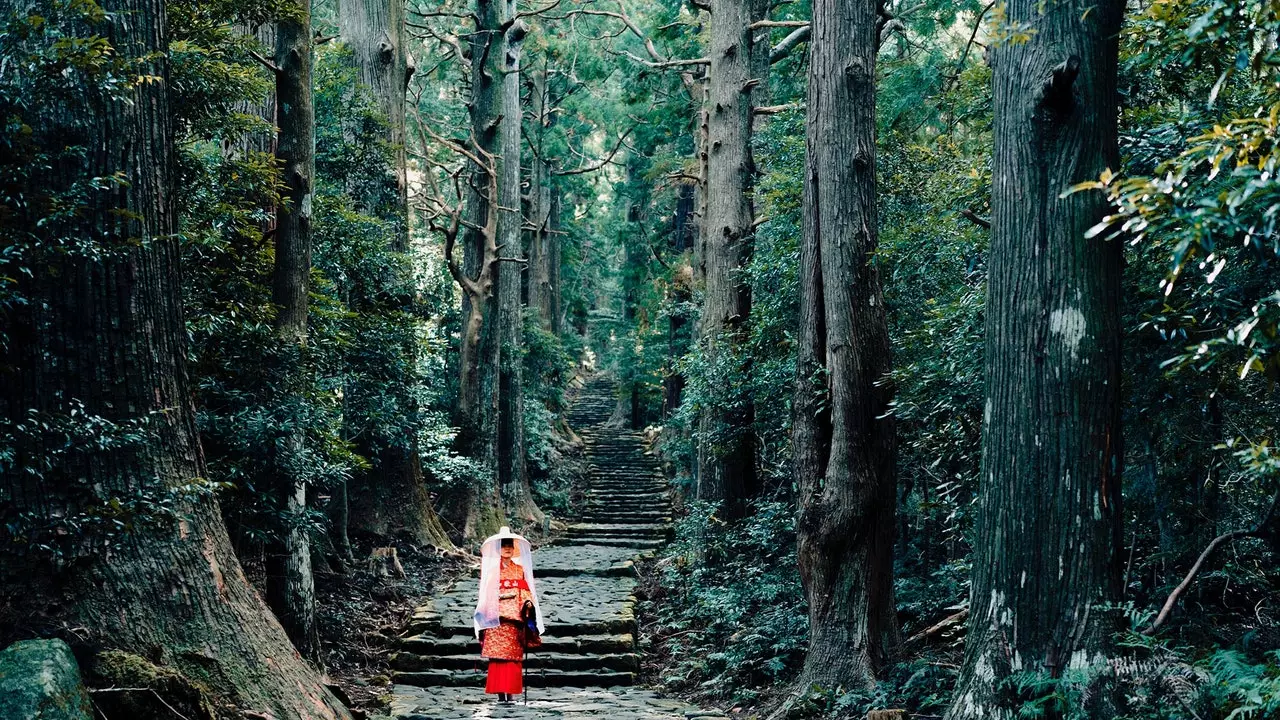
[[[699, 337], [708, 361], [737, 355], [751, 311], [741, 270], [750, 258], [755, 161], [751, 156], [751, 0], [712, 0], [710, 87], [707, 109], [705, 284]], [[754, 407], [750, 398], [707, 407], [699, 418], [698, 497], [742, 515], [755, 493]], [[714, 438], [714, 439], [710, 439]]]

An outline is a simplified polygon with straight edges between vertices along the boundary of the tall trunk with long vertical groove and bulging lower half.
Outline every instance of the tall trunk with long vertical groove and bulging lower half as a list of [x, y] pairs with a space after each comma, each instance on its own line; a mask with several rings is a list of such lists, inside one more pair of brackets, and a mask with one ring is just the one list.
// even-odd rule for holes
[[809, 653], [800, 683], [872, 688], [893, 606], [892, 391], [876, 251], [876, 0], [817, 0], [792, 442]]

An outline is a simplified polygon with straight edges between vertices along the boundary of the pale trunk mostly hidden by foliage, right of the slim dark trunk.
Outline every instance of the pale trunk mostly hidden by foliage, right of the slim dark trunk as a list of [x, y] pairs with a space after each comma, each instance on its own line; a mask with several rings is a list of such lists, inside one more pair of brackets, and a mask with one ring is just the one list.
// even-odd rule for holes
[[[404, 149], [406, 88], [412, 61], [407, 51], [404, 32], [404, 0], [342, 0], [339, 4], [342, 38], [352, 53], [360, 82], [365, 85], [387, 117], [387, 142], [393, 151], [385, 188], [380, 197], [365, 199], [366, 210], [396, 225], [390, 240], [393, 252], [410, 251], [407, 155]], [[389, 273], [407, 274], [408, 268], [392, 268]], [[394, 286], [407, 286], [407, 277], [392, 278]], [[390, 299], [385, 310], [398, 310], [408, 297]], [[406, 340], [407, 357], [417, 355], [416, 337]], [[410, 363], [410, 365], [412, 365]], [[412, 397], [402, 398], [403, 411], [416, 416], [419, 407]], [[358, 492], [351, 503], [351, 523], [378, 536], [404, 534], [412, 542], [433, 547], [452, 548], [431, 503], [431, 496], [422, 477], [416, 433], [392, 441], [381, 447], [360, 447], [369, 457], [371, 468], [357, 480]]]

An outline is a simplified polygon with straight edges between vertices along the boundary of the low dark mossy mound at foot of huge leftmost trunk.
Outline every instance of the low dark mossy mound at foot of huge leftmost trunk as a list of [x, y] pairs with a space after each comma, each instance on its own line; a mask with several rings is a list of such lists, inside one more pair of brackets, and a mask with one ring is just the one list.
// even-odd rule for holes
[[95, 702], [108, 717], [218, 720], [209, 689], [173, 667], [119, 650], [93, 656]]

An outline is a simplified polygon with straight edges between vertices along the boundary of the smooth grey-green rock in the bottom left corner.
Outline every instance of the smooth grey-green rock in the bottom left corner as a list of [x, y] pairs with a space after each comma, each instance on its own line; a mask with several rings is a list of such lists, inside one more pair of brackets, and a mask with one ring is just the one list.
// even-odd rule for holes
[[0, 652], [0, 717], [91, 720], [92, 705], [72, 648], [20, 641]]

